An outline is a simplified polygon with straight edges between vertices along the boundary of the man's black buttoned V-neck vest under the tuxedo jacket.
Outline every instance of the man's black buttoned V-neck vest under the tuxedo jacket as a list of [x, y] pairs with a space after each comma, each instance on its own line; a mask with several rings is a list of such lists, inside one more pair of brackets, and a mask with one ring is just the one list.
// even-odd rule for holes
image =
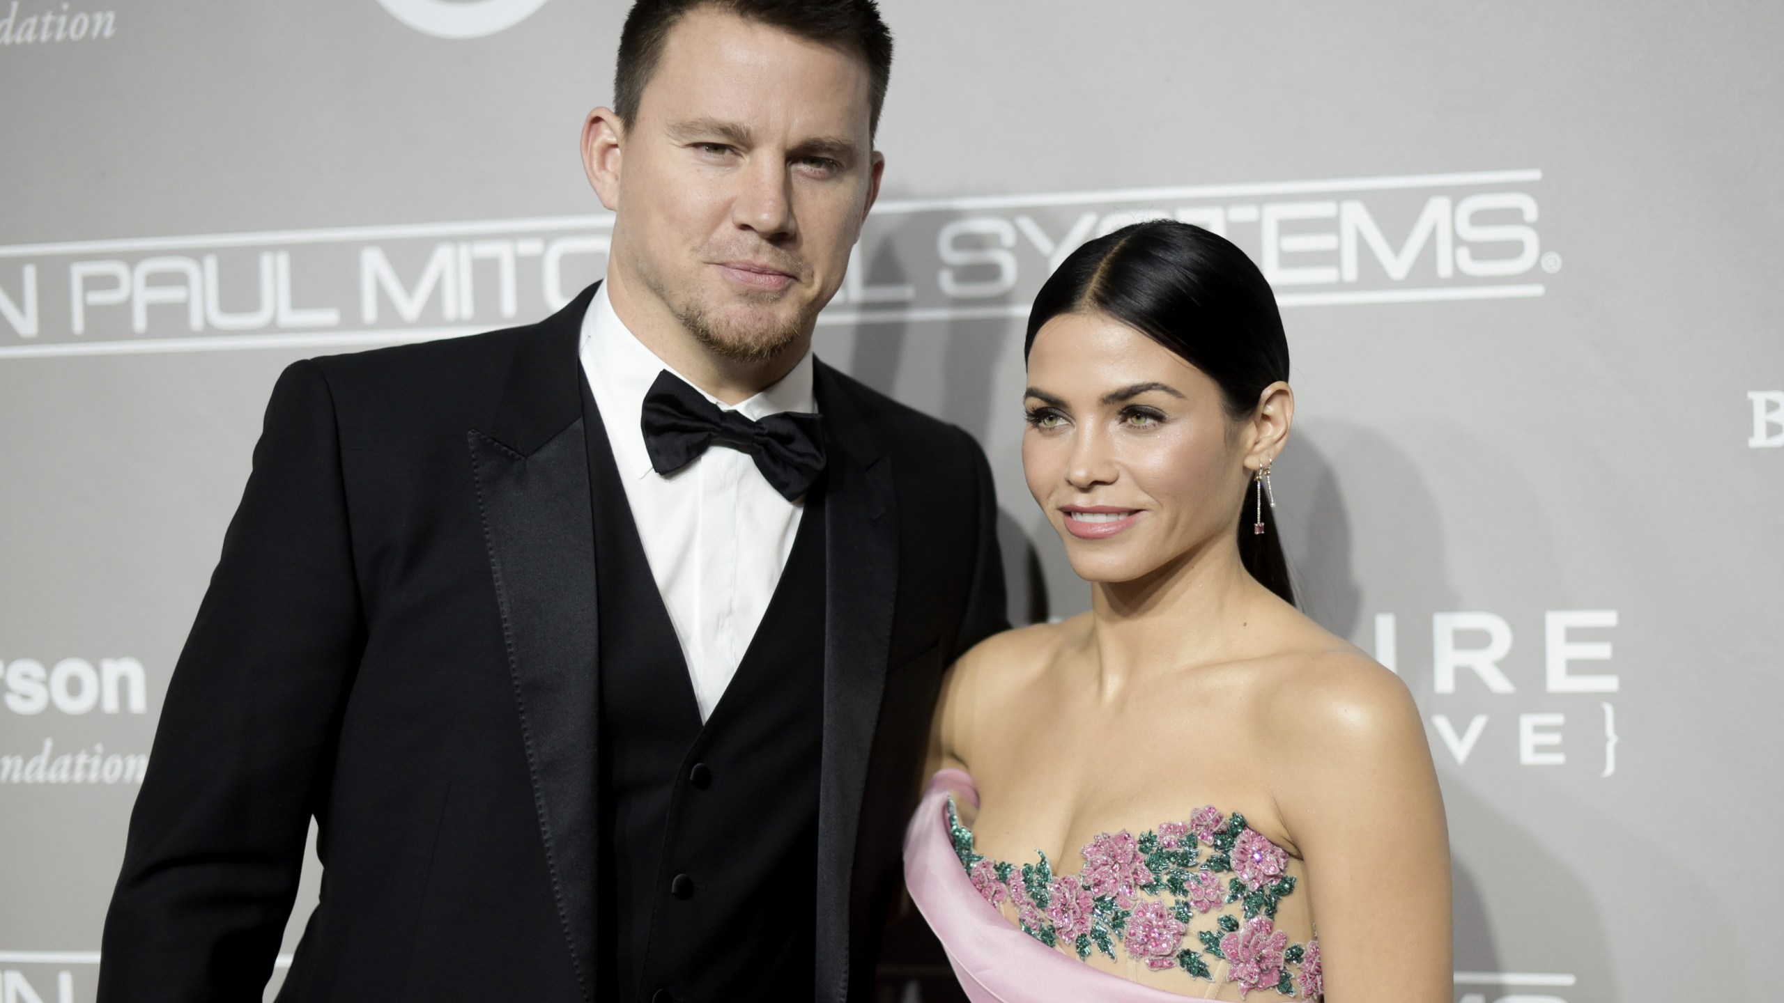
[[[583, 385], [599, 601], [598, 1003], [814, 998], [824, 510], [705, 726]], [[726, 446], [714, 446], [726, 448]]]

